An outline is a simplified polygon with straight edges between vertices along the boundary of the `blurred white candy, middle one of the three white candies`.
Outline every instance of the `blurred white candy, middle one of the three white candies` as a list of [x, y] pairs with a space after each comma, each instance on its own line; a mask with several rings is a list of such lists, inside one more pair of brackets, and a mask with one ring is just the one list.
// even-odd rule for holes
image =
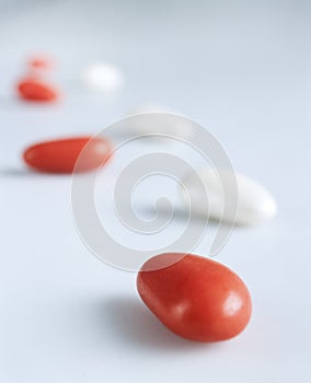
[[[161, 106], [157, 104], [141, 104], [138, 105], [136, 108], [133, 108], [130, 111], [130, 114], [134, 115], [140, 115], [146, 113], [168, 113], [172, 115], [180, 116], [178, 113], [174, 112], [170, 107]], [[137, 135], [148, 135], [150, 132], [157, 132], [158, 135], [170, 135], [175, 138], [180, 138], [183, 140], [187, 140], [192, 137], [194, 128], [192, 127], [192, 123], [187, 120], [186, 118], [178, 117], [174, 121], [172, 118], [168, 118], [168, 121], [163, 124], [157, 123], [157, 118], [152, 120], [152, 117], [147, 118], [135, 118], [133, 120], [133, 124], [130, 125], [130, 129], [133, 132]], [[148, 124], [146, 124], [146, 121]]]

